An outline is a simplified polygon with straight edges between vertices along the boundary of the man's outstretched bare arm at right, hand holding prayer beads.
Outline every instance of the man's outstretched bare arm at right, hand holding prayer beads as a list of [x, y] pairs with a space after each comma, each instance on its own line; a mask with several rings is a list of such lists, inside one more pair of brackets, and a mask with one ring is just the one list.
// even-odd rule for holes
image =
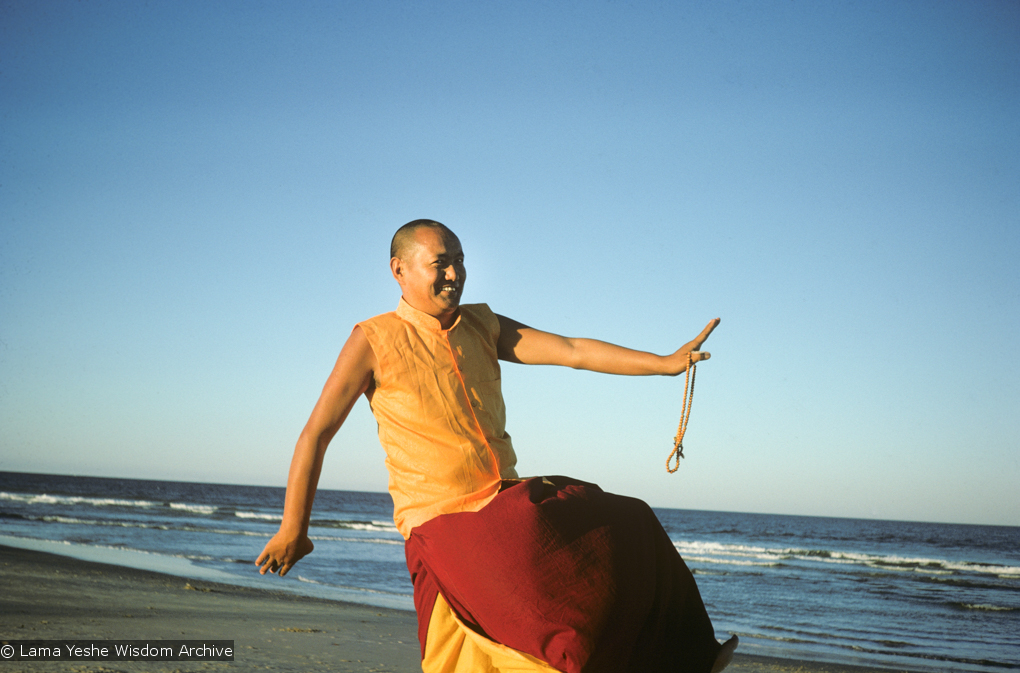
[[553, 364], [588, 369], [606, 374], [645, 376], [661, 374], [675, 376], [687, 369], [687, 354], [693, 362], [708, 360], [712, 355], [701, 350], [702, 344], [719, 324], [719, 318], [709, 321], [700, 334], [670, 355], [655, 355], [633, 351], [622, 346], [594, 339], [560, 336], [528, 327], [502, 315], [500, 340], [497, 345], [501, 360], [519, 364]]

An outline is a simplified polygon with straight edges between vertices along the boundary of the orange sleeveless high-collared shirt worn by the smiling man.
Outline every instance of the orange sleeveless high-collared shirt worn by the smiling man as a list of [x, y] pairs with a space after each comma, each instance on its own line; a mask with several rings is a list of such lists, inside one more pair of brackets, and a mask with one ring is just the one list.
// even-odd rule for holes
[[406, 539], [441, 514], [476, 512], [517, 478], [506, 432], [496, 342], [484, 304], [460, 307], [449, 329], [403, 299], [359, 322], [375, 354], [368, 400], [386, 450], [394, 522]]

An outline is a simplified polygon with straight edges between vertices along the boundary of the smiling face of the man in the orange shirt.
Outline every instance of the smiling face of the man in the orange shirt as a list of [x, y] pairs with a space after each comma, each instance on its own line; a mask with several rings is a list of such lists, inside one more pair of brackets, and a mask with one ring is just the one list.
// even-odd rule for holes
[[453, 231], [422, 226], [400, 257], [390, 260], [404, 301], [449, 328], [464, 292], [464, 251]]

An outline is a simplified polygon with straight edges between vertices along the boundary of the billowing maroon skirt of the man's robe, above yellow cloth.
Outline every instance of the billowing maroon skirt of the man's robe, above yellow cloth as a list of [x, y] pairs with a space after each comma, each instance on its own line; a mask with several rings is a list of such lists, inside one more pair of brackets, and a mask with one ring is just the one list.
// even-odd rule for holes
[[422, 657], [442, 592], [469, 628], [564, 673], [707, 673], [719, 643], [644, 502], [567, 477], [505, 482], [405, 545]]

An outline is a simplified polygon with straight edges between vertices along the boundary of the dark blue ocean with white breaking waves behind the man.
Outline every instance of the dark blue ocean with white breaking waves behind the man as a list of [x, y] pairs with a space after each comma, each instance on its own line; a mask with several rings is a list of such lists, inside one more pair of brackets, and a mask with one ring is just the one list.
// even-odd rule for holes
[[[413, 610], [389, 495], [321, 489], [315, 552], [254, 560], [268, 486], [0, 472], [0, 543]], [[656, 509], [738, 652], [912, 671], [1020, 669], [1020, 527]]]

